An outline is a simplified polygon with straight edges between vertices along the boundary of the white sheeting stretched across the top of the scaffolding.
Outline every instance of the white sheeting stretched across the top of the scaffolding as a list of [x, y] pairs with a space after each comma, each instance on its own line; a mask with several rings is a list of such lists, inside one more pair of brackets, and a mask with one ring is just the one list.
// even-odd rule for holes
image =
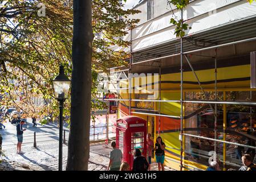
[[[180, 10], [174, 10], [174, 14], [180, 19]], [[186, 35], [212, 30], [255, 15], [256, 2], [250, 5], [250, 3], [243, 0], [193, 1], [184, 9], [184, 19], [192, 27], [186, 31]], [[175, 40], [174, 26], [170, 24], [172, 17], [173, 13], [169, 12], [133, 28], [132, 52]], [[130, 36], [125, 36], [125, 40], [129, 41]], [[115, 47], [114, 49], [116, 51], [130, 51], [130, 48]]]

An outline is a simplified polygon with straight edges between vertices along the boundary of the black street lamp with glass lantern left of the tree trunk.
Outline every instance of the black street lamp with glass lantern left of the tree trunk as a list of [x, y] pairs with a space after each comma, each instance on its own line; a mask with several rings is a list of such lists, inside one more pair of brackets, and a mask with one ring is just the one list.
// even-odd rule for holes
[[59, 67], [59, 75], [52, 80], [56, 100], [59, 101], [59, 171], [62, 171], [62, 133], [63, 133], [63, 104], [70, 89], [70, 79], [64, 73], [63, 65]]

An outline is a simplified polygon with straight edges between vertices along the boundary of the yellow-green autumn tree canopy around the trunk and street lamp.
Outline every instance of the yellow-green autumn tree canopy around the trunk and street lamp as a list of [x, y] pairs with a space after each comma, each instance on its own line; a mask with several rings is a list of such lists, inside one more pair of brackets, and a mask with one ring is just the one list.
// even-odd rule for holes
[[[124, 60], [129, 56], [109, 47], [129, 46], [121, 37], [139, 22], [128, 19], [139, 11], [123, 10], [122, 6], [119, 0], [92, 1], [92, 98], [95, 99], [97, 74], [126, 64]], [[58, 75], [60, 63], [71, 77], [72, 17], [70, 0], [0, 0], [0, 105], [13, 105], [29, 114], [58, 113], [54, 111], [58, 104], [51, 80]], [[42, 97], [47, 105], [36, 106], [33, 97]], [[100, 101], [96, 103], [92, 109], [104, 107]], [[64, 115], [69, 115], [70, 99], [65, 104]]]

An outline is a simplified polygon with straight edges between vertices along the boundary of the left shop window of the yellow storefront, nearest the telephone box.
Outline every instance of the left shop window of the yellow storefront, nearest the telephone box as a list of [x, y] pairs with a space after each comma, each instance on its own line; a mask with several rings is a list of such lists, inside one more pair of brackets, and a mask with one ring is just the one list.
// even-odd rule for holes
[[[213, 109], [214, 109], [214, 105]], [[185, 104], [185, 133], [206, 138], [215, 138], [213, 110], [208, 104]], [[217, 134], [216, 139], [223, 139], [223, 107], [217, 105]], [[186, 136], [185, 158], [187, 160], [209, 166], [209, 161], [216, 158], [220, 161], [222, 168], [223, 143]], [[215, 151], [215, 152], [214, 152]]]

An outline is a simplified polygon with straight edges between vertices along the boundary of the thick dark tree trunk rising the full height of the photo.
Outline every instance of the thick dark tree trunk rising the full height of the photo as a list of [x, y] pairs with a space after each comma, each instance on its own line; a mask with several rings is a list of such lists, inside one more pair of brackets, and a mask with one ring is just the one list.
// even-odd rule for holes
[[74, 0], [72, 44], [71, 125], [66, 170], [87, 170], [91, 119], [91, 1]]

